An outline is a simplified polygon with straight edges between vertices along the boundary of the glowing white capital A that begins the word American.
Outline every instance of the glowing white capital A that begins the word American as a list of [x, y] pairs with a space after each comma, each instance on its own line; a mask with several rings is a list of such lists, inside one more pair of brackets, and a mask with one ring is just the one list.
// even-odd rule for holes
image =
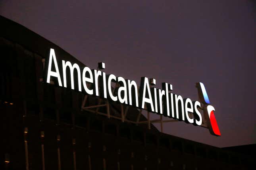
[[[54, 62], [56, 72], [51, 71], [52, 60]], [[60, 79], [60, 72], [59, 72], [59, 68], [58, 68], [58, 64], [57, 64], [57, 60], [56, 60], [56, 55], [55, 55], [54, 49], [52, 49], [52, 48], [50, 49], [50, 57], [49, 57], [48, 72], [47, 72], [47, 79], [46, 79], [47, 83], [50, 83], [50, 77], [51, 76], [57, 77], [59, 86], [62, 86], [62, 81]]]

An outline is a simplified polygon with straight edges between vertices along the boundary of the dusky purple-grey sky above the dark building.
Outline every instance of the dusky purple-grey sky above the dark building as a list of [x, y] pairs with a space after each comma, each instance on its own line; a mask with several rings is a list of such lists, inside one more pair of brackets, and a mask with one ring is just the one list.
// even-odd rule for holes
[[255, 5], [248, 0], [1, 0], [0, 15], [91, 69], [105, 62], [106, 73], [138, 85], [141, 77], [154, 77], [156, 87], [171, 83], [173, 93], [198, 100], [195, 83], [203, 82], [222, 136], [185, 122], [166, 123], [164, 132], [226, 147], [256, 143]]

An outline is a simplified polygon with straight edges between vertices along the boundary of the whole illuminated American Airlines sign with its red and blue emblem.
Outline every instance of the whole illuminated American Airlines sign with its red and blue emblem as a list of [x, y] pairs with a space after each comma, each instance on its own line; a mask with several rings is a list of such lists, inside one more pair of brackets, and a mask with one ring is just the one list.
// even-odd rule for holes
[[[100, 68], [106, 68], [105, 63], [99, 63]], [[61, 69], [59, 70], [59, 65]], [[152, 113], [185, 121], [195, 126], [202, 125], [202, 115], [208, 113], [208, 127], [211, 134], [220, 136], [219, 128], [214, 116], [214, 108], [209, 105], [206, 89], [202, 83], [197, 83], [200, 101], [192, 101], [190, 98], [183, 98], [181, 95], [171, 93], [173, 86], [169, 83], [162, 83], [162, 89], [152, 87], [156, 85], [156, 79], [141, 77], [141, 84], [138, 86], [134, 80], [117, 77], [114, 74], [106, 74], [101, 70], [91, 70], [85, 66], [80, 68], [76, 63], [62, 60], [58, 62], [54, 49], [50, 49], [50, 55], [46, 59], [46, 83], [54, 80], [60, 87], [67, 87], [85, 94], [98, 96], [121, 104], [127, 104], [139, 109], [148, 110]], [[68, 77], [68, 78], [67, 78]], [[70, 79], [70, 82], [67, 81]], [[118, 83], [119, 87], [112, 91], [112, 82]], [[69, 83], [69, 85], [67, 85]], [[210, 125], [210, 126], [209, 126]]]

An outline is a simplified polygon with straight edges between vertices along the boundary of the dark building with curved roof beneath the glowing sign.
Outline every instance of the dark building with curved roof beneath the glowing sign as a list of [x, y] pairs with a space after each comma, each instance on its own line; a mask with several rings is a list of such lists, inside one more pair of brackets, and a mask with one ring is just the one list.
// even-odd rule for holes
[[50, 48], [60, 59], [84, 64], [24, 26], [4, 17], [0, 23], [0, 169], [243, 170], [252, 165], [250, 156], [159, 132], [136, 108], [46, 84], [44, 57]]

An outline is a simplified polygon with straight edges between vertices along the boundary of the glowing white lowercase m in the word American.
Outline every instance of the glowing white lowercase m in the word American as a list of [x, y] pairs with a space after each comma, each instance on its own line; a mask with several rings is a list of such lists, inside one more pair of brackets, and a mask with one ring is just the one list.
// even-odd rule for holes
[[74, 87], [74, 69], [77, 69], [77, 78], [78, 78], [78, 90], [82, 91], [82, 87], [81, 87], [81, 72], [80, 72], [80, 68], [78, 66], [78, 64], [71, 64], [71, 62], [67, 61], [65, 62], [64, 60], [62, 60], [62, 70], [63, 70], [63, 84], [64, 87], [67, 87], [67, 77], [66, 77], [66, 68], [67, 66], [70, 69], [70, 78], [71, 78], [71, 89], [75, 89]]

